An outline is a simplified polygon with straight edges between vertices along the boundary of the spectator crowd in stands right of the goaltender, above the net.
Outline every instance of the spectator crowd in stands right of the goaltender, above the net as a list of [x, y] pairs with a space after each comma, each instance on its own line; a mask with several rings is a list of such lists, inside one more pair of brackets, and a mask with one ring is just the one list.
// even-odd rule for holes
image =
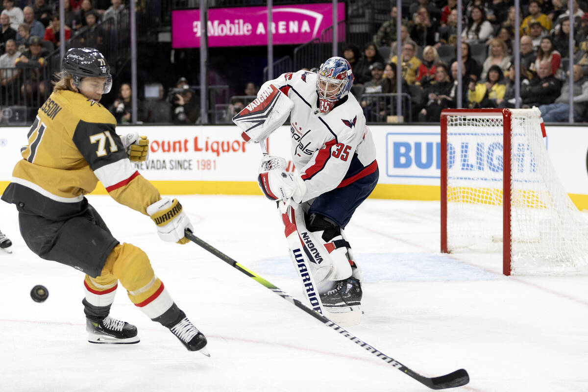
[[[462, 38], [462, 107], [515, 107], [516, 10], [512, 0], [464, 3], [457, 31], [456, 0], [417, 0], [396, 36], [397, 8], [372, 42], [348, 44], [341, 55], [355, 76], [353, 95], [368, 121], [401, 115], [412, 122], [438, 122], [441, 110], [457, 105], [457, 34]], [[546, 122], [567, 122], [570, 88], [574, 121], [588, 120], [588, 9], [574, 0], [572, 16], [561, 0], [522, 1], [520, 9], [520, 98], [537, 106]], [[570, 23], [574, 26], [569, 59]], [[400, 60], [397, 48], [400, 45]], [[396, 69], [402, 69], [402, 113], [396, 113]], [[569, 64], [574, 82], [569, 85]], [[394, 117], [395, 120], [395, 117]]]

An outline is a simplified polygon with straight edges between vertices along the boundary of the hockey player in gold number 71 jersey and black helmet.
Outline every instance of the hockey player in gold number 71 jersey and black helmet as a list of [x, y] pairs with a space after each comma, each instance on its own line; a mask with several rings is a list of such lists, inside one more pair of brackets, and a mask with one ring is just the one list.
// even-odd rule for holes
[[184, 231], [192, 226], [181, 204], [162, 198], [129, 160], [145, 160], [148, 140], [136, 133], [121, 139], [115, 118], [100, 103], [111, 86], [102, 53], [69, 49], [2, 200], [16, 205], [22, 236], [33, 252], [86, 274], [88, 341], [138, 343], [135, 326], [109, 316], [121, 282], [150, 319], [168, 327], [188, 350], [206, 354], [205, 336], [176, 306], [145, 252], [119, 243], [84, 197], [99, 180], [117, 202], [151, 216], [162, 240], [188, 242]]

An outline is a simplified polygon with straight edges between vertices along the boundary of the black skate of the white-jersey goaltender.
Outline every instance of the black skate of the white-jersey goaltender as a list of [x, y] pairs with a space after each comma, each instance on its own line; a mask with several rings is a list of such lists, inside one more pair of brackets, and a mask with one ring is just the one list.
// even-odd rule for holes
[[335, 286], [320, 294], [320, 300], [330, 320], [342, 327], [360, 323], [362, 317], [362, 285], [353, 276], [334, 282]]

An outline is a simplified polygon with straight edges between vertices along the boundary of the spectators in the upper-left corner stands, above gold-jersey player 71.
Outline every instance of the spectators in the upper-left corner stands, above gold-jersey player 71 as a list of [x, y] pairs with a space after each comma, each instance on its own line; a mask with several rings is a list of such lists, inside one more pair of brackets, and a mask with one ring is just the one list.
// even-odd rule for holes
[[[0, 105], [35, 106], [50, 92], [44, 67], [49, 53], [61, 45], [58, 5], [58, 0], [2, 0]], [[124, 8], [122, 0], [65, 0], [64, 6], [66, 40], [91, 37], [96, 26], [116, 21]]]

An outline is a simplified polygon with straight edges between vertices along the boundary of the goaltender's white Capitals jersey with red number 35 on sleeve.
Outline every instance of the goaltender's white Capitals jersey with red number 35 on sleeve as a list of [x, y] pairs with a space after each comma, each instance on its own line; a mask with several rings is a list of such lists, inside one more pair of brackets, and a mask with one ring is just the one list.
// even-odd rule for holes
[[292, 161], [306, 185], [302, 202], [370, 175], [377, 169], [376, 148], [361, 106], [351, 94], [327, 113], [318, 108], [317, 75], [283, 73], [265, 82], [294, 102], [290, 112]]

